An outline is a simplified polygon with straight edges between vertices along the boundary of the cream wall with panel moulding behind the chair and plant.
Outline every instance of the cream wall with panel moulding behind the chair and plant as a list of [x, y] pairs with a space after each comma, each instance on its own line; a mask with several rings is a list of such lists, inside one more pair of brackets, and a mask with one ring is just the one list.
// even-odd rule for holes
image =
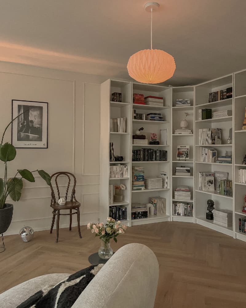
[[[44, 169], [52, 174], [69, 171], [77, 178], [76, 198], [81, 202], [81, 225], [98, 221], [100, 83], [106, 77], [48, 68], [0, 62], [0, 135], [11, 120], [11, 100], [48, 102], [48, 149], [17, 149], [8, 163], [8, 176], [17, 169]], [[5, 142], [11, 142], [11, 128]], [[0, 174], [3, 177], [3, 163]], [[38, 176], [24, 183], [22, 198], [14, 203], [14, 215], [7, 234], [24, 225], [34, 230], [50, 229], [50, 188]], [[8, 200], [13, 203], [12, 200]], [[61, 217], [60, 227], [68, 227]], [[76, 217], [73, 215], [73, 225]]]

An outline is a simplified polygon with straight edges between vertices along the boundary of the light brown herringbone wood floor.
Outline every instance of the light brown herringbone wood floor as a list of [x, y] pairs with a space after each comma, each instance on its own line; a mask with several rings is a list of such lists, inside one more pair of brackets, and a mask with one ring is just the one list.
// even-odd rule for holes
[[[98, 238], [85, 226], [36, 232], [24, 243], [18, 235], [5, 237], [0, 254], [0, 293], [30, 278], [49, 273], [73, 273], [89, 266]], [[138, 242], [149, 246], [160, 265], [155, 308], [246, 307], [246, 243], [205, 227], [183, 222], [163, 222], [127, 229], [112, 243], [114, 251]], [[130, 307], [129, 307], [130, 308]]]

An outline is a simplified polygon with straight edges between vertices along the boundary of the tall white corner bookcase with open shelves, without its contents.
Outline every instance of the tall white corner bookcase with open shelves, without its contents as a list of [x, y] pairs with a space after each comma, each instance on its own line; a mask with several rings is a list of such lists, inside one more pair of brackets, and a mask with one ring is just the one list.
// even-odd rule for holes
[[[220, 91], [232, 87], [232, 98], [208, 102], [210, 92]], [[113, 92], [122, 93], [122, 103], [110, 100]], [[133, 104], [133, 93], [141, 93], [144, 96], [153, 95], [164, 98], [163, 107]], [[191, 106], [176, 107], [176, 99], [190, 99]], [[124, 80], [109, 79], [101, 84], [101, 144], [100, 144], [100, 207], [99, 220], [105, 222], [109, 216], [109, 185], [125, 184], [124, 200], [112, 205], [124, 205], [127, 207], [128, 226], [142, 225], [161, 221], [184, 221], [204, 225], [210, 229], [227, 234], [234, 238], [246, 241], [246, 233], [239, 231], [239, 217], [246, 218], [242, 212], [244, 196], [246, 195], [246, 183], [239, 182], [239, 169], [246, 169], [243, 165], [243, 157], [246, 154], [246, 130], [242, 130], [244, 111], [246, 107], [246, 70], [238, 71], [208, 82], [195, 86], [165, 87], [158, 85], [141, 84]], [[199, 109], [210, 108], [214, 111], [232, 110], [232, 115], [207, 120], [199, 119]], [[134, 120], [133, 109], [137, 113], [160, 112], [165, 121], [153, 122], [148, 120]], [[186, 118], [188, 128], [192, 134], [175, 134], [180, 128], [180, 122], [185, 118], [185, 112], [189, 115]], [[126, 118], [126, 132], [110, 132], [110, 118]], [[150, 133], [157, 133], [157, 140], [160, 141], [160, 129], [165, 128], [168, 132], [168, 142], [163, 145], [135, 145], [132, 136], [135, 131], [143, 127], [143, 134], [150, 140]], [[232, 164], [200, 161], [200, 148], [209, 147], [199, 144], [199, 129], [221, 128], [221, 144], [213, 144], [211, 148], [217, 150], [218, 156], [224, 155], [226, 151], [232, 151]], [[229, 129], [232, 128], [232, 144], [227, 144]], [[124, 157], [122, 162], [110, 162], [109, 143], [114, 144], [114, 154]], [[177, 160], [177, 146], [189, 146], [189, 159]], [[165, 149], [168, 152], [167, 161], [132, 161], [132, 150], [141, 148]], [[109, 177], [109, 167], [113, 164], [124, 164], [128, 166], [126, 178], [112, 179]], [[145, 189], [132, 191], [132, 167], [142, 166], [145, 169], [145, 177], [157, 177], [160, 171], [168, 174], [168, 188], [156, 190]], [[178, 166], [189, 167], [190, 176], [176, 176], [175, 168]], [[216, 192], [199, 190], [199, 172], [228, 172], [228, 179], [232, 180], [233, 195], [225, 196]], [[175, 200], [174, 191], [179, 185], [186, 185], [191, 191], [191, 200]], [[113, 192], [114, 194], [114, 192]], [[149, 197], [166, 198], [166, 215], [131, 220], [131, 206], [134, 203], [147, 204]], [[233, 211], [233, 226], [223, 227], [213, 221], [206, 219], [207, 200], [215, 202], [216, 209], [229, 209]], [[173, 213], [174, 202], [185, 202], [193, 204], [193, 216], [180, 216]]]

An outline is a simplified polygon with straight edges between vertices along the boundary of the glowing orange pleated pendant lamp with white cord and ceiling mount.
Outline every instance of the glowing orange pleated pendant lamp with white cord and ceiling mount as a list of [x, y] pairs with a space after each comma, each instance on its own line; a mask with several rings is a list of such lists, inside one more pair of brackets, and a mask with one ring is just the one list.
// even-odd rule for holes
[[159, 3], [145, 4], [145, 10], [151, 12], [151, 49], [136, 52], [128, 61], [129, 75], [141, 83], [161, 83], [171, 78], [176, 65], [172, 55], [159, 49], [152, 49], [152, 14], [159, 8]]

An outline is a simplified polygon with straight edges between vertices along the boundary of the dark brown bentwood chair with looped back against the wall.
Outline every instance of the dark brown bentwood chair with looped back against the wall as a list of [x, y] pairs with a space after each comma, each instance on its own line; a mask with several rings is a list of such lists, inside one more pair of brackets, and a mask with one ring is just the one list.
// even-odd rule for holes
[[[67, 176], [68, 185], [67, 185], [67, 190], [66, 190], [66, 194], [65, 194], [66, 203], [65, 203], [65, 205], [59, 205], [58, 202], [56, 202], [55, 192], [54, 192], [53, 186], [51, 184], [50, 185], [50, 188], [51, 188], [51, 203], [50, 203], [50, 206], [53, 208], [53, 212], [52, 212], [53, 213], [53, 219], [52, 219], [52, 224], [51, 224], [51, 228], [50, 228], [50, 233], [52, 233], [52, 230], [53, 230], [53, 227], [54, 227], [54, 222], [55, 222], [55, 217], [57, 216], [57, 220], [56, 220], [56, 242], [58, 242], [60, 216], [66, 216], [66, 215], [70, 216], [69, 231], [71, 231], [72, 230], [72, 215], [77, 214], [78, 233], [79, 233], [79, 237], [81, 238], [82, 236], [81, 236], [81, 233], [80, 233], [80, 213], [79, 213], [80, 203], [76, 200], [76, 197], [75, 197], [76, 178], [72, 173], [65, 172], [65, 171], [56, 172], [56, 173], [52, 174], [51, 180], [52, 180], [53, 177], [55, 178], [55, 184], [56, 184], [56, 189], [57, 189], [57, 193], [58, 193], [58, 200], [61, 198], [60, 190], [59, 190], [59, 186], [58, 186], [58, 182], [57, 182], [58, 176]], [[73, 178], [73, 188], [72, 188], [72, 192], [71, 192], [70, 201], [67, 201], [67, 196], [68, 196], [71, 178]], [[69, 213], [60, 214], [61, 210], [69, 210]]]

